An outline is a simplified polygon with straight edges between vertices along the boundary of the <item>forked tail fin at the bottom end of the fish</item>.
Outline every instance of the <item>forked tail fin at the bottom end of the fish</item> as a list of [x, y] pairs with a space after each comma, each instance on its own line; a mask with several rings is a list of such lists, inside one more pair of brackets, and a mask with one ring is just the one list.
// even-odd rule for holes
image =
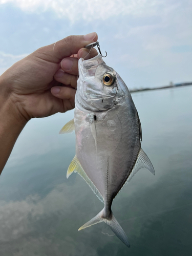
[[95, 225], [99, 222], [104, 221], [106, 224], [108, 224], [111, 228], [111, 230], [116, 234], [116, 236], [128, 247], [130, 247], [130, 243], [128, 241], [128, 238], [124, 232], [124, 230], [122, 229], [122, 227], [120, 226], [120, 224], [118, 223], [118, 221], [115, 219], [113, 212], [111, 212], [111, 218], [110, 219], [106, 219], [103, 218], [103, 210], [102, 209], [98, 215], [96, 215], [93, 219], [91, 219], [90, 221], [88, 221], [86, 224], [84, 224], [82, 227], [80, 227], [78, 230], [81, 230], [83, 228], [87, 228], [90, 227], [92, 225]]

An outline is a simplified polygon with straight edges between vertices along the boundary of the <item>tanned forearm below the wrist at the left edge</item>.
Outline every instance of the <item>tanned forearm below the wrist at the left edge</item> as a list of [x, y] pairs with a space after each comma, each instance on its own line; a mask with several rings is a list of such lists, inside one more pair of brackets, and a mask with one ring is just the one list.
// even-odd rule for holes
[[[27, 121], [22, 118], [11, 99], [6, 102], [1, 95], [0, 106], [0, 174], [11, 154], [13, 146]], [[4, 102], [2, 104], [2, 102]]]

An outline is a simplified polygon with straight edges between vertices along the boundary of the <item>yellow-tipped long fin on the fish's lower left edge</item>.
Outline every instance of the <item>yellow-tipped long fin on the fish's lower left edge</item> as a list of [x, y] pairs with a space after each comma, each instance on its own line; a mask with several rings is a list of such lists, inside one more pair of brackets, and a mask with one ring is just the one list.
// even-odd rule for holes
[[101, 202], [103, 202], [103, 198], [102, 198], [99, 190], [96, 188], [96, 186], [93, 184], [93, 182], [87, 176], [87, 174], [84, 172], [84, 170], [83, 170], [81, 164], [79, 163], [79, 160], [78, 160], [76, 155], [75, 155], [75, 157], [73, 158], [72, 162], [69, 165], [69, 168], [68, 168], [68, 171], [67, 171], [67, 178], [69, 178], [69, 176], [73, 172], [75, 172], [75, 173], [77, 172], [88, 183], [88, 185], [91, 187], [91, 189], [93, 190], [95, 195], [98, 197], [98, 199], [101, 200]]

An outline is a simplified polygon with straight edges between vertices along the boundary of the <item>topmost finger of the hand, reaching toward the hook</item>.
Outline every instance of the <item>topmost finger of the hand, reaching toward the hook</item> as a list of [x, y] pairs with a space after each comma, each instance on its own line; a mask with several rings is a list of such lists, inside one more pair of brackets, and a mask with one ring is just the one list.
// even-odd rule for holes
[[97, 41], [97, 38], [96, 32], [87, 35], [71, 35], [57, 41], [55, 44], [42, 47], [38, 50], [40, 50], [41, 54], [44, 54], [45, 60], [58, 63], [65, 57], [77, 54], [81, 48], [91, 44], [91, 42]]

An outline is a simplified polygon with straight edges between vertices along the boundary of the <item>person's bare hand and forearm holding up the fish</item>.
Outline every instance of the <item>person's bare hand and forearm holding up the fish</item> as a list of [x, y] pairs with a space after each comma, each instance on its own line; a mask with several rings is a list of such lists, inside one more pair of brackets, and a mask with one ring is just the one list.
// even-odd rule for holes
[[31, 118], [74, 108], [78, 59], [93, 58], [97, 34], [68, 36], [41, 47], [0, 76], [0, 174], [12, 148]]

